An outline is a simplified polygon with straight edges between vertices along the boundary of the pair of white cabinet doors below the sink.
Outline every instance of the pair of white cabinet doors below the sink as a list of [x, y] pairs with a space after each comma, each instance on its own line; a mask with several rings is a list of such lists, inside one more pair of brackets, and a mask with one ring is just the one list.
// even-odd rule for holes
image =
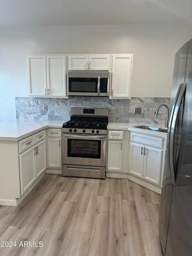
[[160, 185], [162, 149], [130, 143], [129, 173]]

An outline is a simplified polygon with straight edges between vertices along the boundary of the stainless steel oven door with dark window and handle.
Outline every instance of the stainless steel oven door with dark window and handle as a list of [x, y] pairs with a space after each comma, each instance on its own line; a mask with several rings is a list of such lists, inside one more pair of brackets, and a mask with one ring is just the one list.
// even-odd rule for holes
[[106, 161], [106, 135], [63, 134], [63, 164], [102, 166]]

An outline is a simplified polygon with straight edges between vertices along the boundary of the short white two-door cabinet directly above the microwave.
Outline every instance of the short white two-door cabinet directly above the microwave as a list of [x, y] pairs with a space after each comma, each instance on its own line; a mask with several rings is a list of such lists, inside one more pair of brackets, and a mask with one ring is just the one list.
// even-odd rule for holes
[[110, 70], [110, 54], [69, 55], [69, 71]]

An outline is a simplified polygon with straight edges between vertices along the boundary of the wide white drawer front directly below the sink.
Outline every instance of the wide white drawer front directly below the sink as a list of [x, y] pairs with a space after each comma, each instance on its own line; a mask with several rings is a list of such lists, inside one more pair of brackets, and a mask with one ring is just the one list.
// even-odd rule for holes
[[143, 143], [156, 148], [163, 147], [163, 138], [158, 138], [158, 137], [154, 137], [146, 134], [131, 132], [131, 141], [134, 141], [137, 143]]

